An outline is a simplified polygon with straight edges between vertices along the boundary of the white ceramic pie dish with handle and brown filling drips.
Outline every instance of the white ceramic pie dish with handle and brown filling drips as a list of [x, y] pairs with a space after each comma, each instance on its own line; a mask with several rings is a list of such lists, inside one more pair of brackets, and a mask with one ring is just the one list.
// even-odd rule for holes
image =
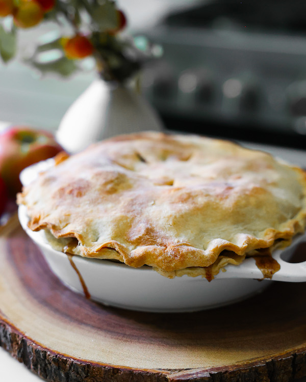
[[[29, 184], [39, 172], [52, 165], [53, 160], [39, 162], [20, 175], [23, 185]], [[271, 284], [263, 279], [261, 270], [253, 258], [240, 265], [227, 265], [226, 271], [220, 271], [214, 280], [208, 282], [201, 276], [188, 276], [167, 279], [149, 266], [132, 268], [125, 264], [108, 260], [69, 257], [54, 250], [48, 243], [44, 232], [33, 232], [27, 224], [29, 218], [25, 206], [20, 205], [18, 216], [22, 228], [40, 248], [50, 269], [73, 291], [84, 293], [83, 279], [91, 299], [119, 308], [150, 312], [186, 312], [210, 309], [227, 305], [261, 292]], [[272, 280], [305, 282], [306, 261], [288, 263], [296, 246], [306, 241], [306, 235], [300, 235], [286, 250], [276, 250], [273, 258], [281, 265]]]

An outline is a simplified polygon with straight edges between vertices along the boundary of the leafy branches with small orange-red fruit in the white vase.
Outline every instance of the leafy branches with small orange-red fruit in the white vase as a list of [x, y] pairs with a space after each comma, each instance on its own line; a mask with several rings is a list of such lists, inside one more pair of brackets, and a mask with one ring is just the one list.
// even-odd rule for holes
[[[25, 63], [41, 72], [68, 76], [91, 58], [107, 81], [123, 83], [152, 56], [149, 42], [141, 47], [121, 32], [126, 16], [113, 0], [0, 0], [0, 56], [10, 61], [17, 36], [43, 22], [54, 23], [54, 34], [39, 37]], [[67, 32], [68, 31], [68, 32]]]

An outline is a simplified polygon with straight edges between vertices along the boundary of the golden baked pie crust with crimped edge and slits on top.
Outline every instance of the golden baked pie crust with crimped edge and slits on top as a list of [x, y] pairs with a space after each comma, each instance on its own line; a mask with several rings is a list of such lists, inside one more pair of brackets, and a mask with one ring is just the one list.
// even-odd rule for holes
[[57, 250], [211, 279], [303, 232], [306, 176], [232, 142], [143, 132], [58, 155], [17, 201]]

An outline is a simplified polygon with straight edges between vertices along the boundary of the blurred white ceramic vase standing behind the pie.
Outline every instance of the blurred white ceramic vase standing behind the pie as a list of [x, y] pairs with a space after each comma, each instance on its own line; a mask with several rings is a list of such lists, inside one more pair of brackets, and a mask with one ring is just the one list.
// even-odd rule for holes
[[161, 129], [156, 112], [135, 90], [96, 79], [69, 107], [56, 137], [75, 153], [118, 134]]

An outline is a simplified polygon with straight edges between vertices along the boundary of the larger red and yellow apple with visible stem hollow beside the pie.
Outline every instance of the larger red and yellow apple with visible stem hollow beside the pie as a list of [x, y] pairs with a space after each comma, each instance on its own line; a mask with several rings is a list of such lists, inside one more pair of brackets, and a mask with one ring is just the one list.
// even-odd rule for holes
[[0, 176], [9, 194], [21, 190], [20, 171], [62, 151], [52, 133], [28, 126], [12, 126], [0, 134]]

